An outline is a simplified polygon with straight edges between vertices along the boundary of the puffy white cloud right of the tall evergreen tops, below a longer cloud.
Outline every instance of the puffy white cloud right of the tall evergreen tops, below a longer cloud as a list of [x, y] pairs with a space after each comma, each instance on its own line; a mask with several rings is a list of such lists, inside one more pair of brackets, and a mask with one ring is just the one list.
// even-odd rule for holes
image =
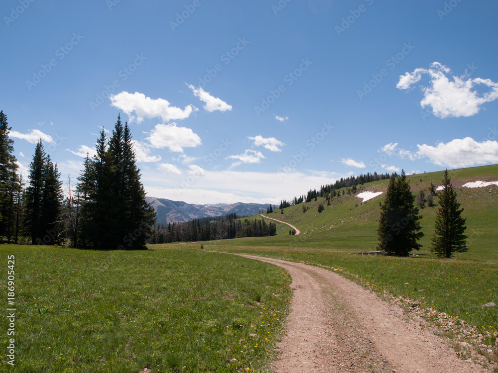
[[172, 152], [183, 153], [183, 148], [201, 145], [201, 138], [190, 128], [177, 127], [176, 123], [156, 124], [146, 138], [153, 148], [169, 148]]

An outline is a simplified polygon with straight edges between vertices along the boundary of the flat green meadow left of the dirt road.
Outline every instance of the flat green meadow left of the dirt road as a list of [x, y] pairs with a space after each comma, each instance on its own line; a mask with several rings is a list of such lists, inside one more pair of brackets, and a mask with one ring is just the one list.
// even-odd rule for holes
[[17, 372], [264, 372], [291, 296], [275, 266], [181, 245], [0, 252], [5, 274], [15, 255]]

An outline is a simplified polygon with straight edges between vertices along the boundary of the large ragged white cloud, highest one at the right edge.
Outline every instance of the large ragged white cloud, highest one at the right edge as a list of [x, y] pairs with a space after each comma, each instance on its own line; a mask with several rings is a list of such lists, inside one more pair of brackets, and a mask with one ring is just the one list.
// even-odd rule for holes
[[[421, 85], [424, 97], [420, 105], [423, 108], [432, 107], [434, 115], [439, 118], [475, 115], [484, 103], [498, 98], [498, 83], [490, 79], [471, 79], [467, 73], [448, 77], [450, 73], [448, 67], [433, 62], [429, 69], [419, 68], [401, 75], [396, 88], [407, 90], [427, 75], [429, 83]], [[477, 89], [487, 92], [480, 94]]]

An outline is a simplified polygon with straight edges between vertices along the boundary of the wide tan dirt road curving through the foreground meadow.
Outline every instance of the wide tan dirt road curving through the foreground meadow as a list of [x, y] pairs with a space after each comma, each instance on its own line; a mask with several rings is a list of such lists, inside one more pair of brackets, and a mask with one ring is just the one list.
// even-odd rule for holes
[[280, 266], [294, 295], [275, 373], [491, 372], [457, 357], [395, 305], [332, 271], [244, 255]]

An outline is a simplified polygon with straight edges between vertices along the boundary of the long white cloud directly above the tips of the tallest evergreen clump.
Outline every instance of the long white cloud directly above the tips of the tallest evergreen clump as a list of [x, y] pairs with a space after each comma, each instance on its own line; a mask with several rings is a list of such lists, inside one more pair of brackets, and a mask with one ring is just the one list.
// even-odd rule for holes
[[[169, 101], [163, 98], [152, 99], [145, 97], [143, 93], [121, 92], [109, 96], [112, 105], [123, 110], [130, 120], [136, 120], [137, 123], [144, 118], [161, 118], [163, 122], [169, 122], [175, 119], [185, 119], [197, 110], [192, 105], [187, 105], [182, 110], [179, 107], [170, 106]], [[133, 111], [135, 115], [133, 115]]]

